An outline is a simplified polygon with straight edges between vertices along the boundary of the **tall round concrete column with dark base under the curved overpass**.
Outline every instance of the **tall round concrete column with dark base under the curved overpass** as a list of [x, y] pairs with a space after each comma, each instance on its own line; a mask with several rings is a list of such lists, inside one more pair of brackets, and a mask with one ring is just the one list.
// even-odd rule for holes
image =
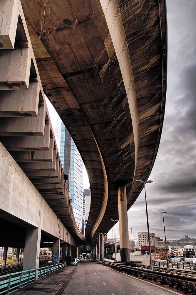
[[118, 188], [118, 219], [120, 230], [120, 260], [130, 261], [126, 186]]

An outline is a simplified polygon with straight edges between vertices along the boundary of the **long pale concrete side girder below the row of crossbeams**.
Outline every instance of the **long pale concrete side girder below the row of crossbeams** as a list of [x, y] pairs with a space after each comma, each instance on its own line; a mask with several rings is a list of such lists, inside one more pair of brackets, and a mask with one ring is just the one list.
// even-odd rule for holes
[[62, 239], [66, 242], [72, 241], [72, 245], [76, 247], [76, 242], [71, 234], [63, 223], [57, 220], [56, 214], [1, 143], [0, 155], [0, 171], [2, 171], [0, 209], [29, 226], [39, 228], [58, 238], [60, 238], [59, 224]]

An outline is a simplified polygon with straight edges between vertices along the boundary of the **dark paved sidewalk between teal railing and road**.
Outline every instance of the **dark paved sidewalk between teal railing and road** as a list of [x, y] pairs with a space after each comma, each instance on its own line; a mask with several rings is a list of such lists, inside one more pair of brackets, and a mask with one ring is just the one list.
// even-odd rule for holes
[[63, 284], [67, 281], [68, 277], [71, 275], [76, 266], [66, 266], [56, 272], [56, 274], [51, 274], [46, 278], [37, 280], [24, 288], [13, 292], [14, 295], [56, 295], [56, 293], [61, 289]]

